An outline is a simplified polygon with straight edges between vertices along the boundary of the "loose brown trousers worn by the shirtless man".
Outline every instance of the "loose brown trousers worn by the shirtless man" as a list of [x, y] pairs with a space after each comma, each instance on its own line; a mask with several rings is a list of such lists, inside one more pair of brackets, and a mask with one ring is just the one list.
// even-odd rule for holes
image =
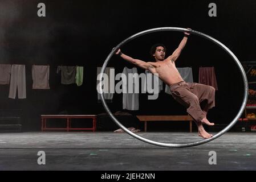
[[209, 109], [215, 106], [215, 89], [213, 86], [185, 81], [170, 85], [174, 100], [186, 107], [188, 114], [197, 122], [201, 122]]

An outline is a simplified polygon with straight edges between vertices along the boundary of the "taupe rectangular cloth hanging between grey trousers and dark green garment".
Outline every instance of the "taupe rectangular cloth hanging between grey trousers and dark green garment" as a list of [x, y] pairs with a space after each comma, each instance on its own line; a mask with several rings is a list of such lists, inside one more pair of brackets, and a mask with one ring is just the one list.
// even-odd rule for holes
[[32, 65], [32, 89], [50, 89], [49, 74], [49, 65]]

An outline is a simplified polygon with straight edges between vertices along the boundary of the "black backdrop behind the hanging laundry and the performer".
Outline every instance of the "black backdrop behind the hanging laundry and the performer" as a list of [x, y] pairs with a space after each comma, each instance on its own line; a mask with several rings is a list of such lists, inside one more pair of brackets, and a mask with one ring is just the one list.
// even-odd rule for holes
[[[46, 17], [37, 16], [37, 5], [46, 4]], [[208, 5], [217, 5], [217, 17], [209, 17]], [[0, 109], [22, 109], [23, 130], [40, 130], [40, 114], [100, 114], [97, 102], [96, 67], [122, 40], [137, 32], [156, 27], [189, 27], [224, 43], [242, 61], [255, 61], [256, 2], [251, 1], [0, 1], [0, 64], [25, 64], [27, 98], [8, 98], [9, 85], [0, 85]], [[151, 61], [152, 44], [164, 43], [170, 55], [180, 43], [182, 32], [157, 32], [125, 44], [127, 55]], [[32, 65], [50, 65], [50, 90], [32, 90]], [[58, 65], [84, 67], [82, 86], [60, 84]], [[123, 71], [125, 63], [113, 57], [109, 67]], [[242, 76], [225, 51], [196, 35], [190, 36], [176, 62], [192, 67], [198, 82], [199, 67], [214, 67], [218, 82], [216, 107], [210, 121], [229, 123], [243, 98]], [[138, 68], [139, 73], [144, 72]], [[140, 94], [143, 115], [186, 114], [173, 98], [160, 93], [157, 100]], [[122, 110], [122, 95], [114, 94], [112, 112]], [[127, 111], [127, 110], [124, 110]]]

